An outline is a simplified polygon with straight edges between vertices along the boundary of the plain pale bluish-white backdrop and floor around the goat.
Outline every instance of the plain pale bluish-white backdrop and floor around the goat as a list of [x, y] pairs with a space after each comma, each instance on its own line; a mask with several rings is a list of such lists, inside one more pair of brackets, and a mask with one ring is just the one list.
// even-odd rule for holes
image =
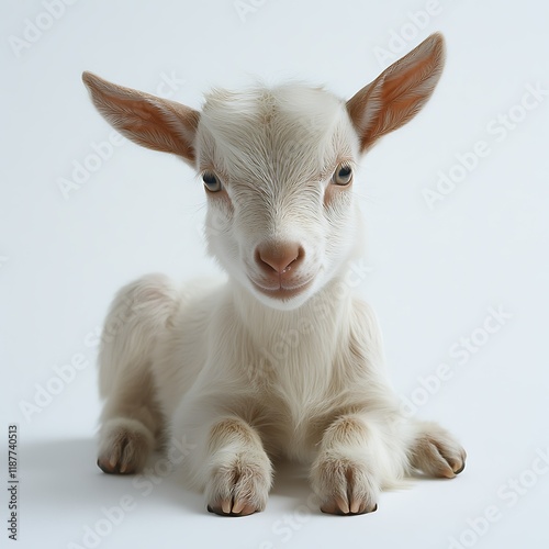
[[[8, 425], [19, 424], [16, 547], [548, 547], [549, 463], [539, 456], [549, 460], [549, 96], [520, 107], [528, 86], [549, 89], [547, 3], [245, 0], [239, 14], [233, 0], [81, 0], [57, 19], [45, 3], [5, 1], [0, 16], [0, 439], [7, 446]], [[435, 14], [414, 16], [427, 8]], [[372, 270], [357, 290], [378, 312], [396, 390], [460, 438], [464, 472], [343, 518], [320, 514], [288, 469], [267, 511], [238, 519], [208, 514], [172, 477], [145, 495], [130, 478], [102, 474], [94, 358], [113, 293], [146, 272], [183, 280], [216, 267], [203, 253], [203, 189], [186, 165], [128, 143], [93, 163], [111, 128], [81, 71], [193, 108], [212, 86], [257, 76], [349, 98], [435, 31], [448, 58], [432, 101], [362, 161], [356, 189]], [[479, 141], [489, 153], [464, 171], [456, 155]], [[86, 161], [96, 171], [64, 195], [59, 181]], [[462, 180], [429, 209], [423, 190], [451, 170]], [[508, 316], [493, 334], [483, 328], [490, 307]], [[457, 355], [471, 336], [474, 352]], [[80, 369], [67, 367], [74, 379], [60, 382], [54, 367], [71, 361]], [[436, 382], [441, 363], [451, 378]], [[132, 508], [108, 522], [103, 508], [121, 497]], [[100, 537], [85, 539], [87, 528]]]

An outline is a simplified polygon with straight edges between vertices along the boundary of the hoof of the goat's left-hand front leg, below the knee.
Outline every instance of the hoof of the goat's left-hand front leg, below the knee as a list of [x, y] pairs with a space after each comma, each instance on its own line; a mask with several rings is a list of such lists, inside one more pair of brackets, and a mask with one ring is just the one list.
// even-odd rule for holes
[[270, 470], [261, 463], [237, 461], [220, 468], [208, 486], [208, 511], [221, 516], [247, 516], [264, 511]]

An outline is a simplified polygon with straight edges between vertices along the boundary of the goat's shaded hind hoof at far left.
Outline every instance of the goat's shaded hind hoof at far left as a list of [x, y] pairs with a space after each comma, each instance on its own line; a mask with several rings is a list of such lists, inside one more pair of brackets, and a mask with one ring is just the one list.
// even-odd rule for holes
[[134, 474], [148, 459], [154, 437], [135, 419], [113, 419], [103, 427], [98, 467], [108, 474]]

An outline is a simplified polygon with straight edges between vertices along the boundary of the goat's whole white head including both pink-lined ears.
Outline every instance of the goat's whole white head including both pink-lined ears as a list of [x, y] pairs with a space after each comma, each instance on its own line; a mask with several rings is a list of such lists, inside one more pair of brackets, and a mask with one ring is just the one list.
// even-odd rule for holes
[[216, 90], [202, 112], [89, 72], [83, 81], [116, 130], [201, 173], [209, 248], [229, 276], [269, 306], [294, 309], [356, 245], [359, 155], [419, 111], [442, 65], [444, 41], [434, 34], [347, 102], [288, 85]]

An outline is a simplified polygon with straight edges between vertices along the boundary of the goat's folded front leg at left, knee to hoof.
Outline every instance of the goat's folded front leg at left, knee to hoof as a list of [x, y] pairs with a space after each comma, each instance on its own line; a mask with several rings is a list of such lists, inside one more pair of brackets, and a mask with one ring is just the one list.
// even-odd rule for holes
[[272, 466], [257, 432], [239, 417], [224, 417], [213, 423], [205, 444], [208, 511], [224, 516], [262, 511]]

